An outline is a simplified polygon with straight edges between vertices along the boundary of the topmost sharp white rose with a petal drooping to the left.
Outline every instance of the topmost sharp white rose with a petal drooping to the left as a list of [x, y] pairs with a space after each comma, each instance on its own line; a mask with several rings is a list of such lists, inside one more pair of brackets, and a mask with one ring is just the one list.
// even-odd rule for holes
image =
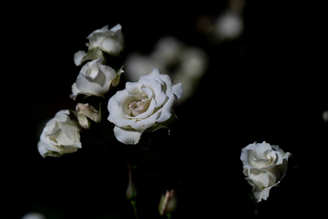
[[113, 56], [117, 56], [124, 49], [124, 37], [122, 34], [122, 26], [117, 24], [108, 30], [108, 25], [94, 30], [87, 37], [89, 43], [86, 44], [89, 51], [86, 53], [79, 50], [74, 54], [74, 63], [76, 66], [81, 65], [86, 60], [93, 60], [102, 57], [102, 51]]

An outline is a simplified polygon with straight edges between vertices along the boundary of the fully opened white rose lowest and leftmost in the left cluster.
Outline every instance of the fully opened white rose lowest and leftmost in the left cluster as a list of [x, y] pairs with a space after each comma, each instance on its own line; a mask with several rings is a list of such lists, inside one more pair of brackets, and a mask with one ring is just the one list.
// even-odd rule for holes
[[46, 123], [38, 142], [38, 150], [43, 157], [59, 157], [81, 148], [80, 128], [66, 115], [69, 113], [68, 109], [60, 110]]

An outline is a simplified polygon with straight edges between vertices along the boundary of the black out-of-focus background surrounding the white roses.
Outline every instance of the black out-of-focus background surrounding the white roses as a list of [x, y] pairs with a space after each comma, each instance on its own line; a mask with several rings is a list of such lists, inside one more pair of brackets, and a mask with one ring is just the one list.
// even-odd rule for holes
[[[327, 194], [328, 124], [322, 118], [328, 109], [327, 73], [323, 57], [314, 52], [324, 44], [307, 13], [311, 8], [237, 2], [244, 3], [238, 14], [242, 30], [228, 39], [213, 29], [231, 10], [231, 1], [48, 5], [22, 12], [14, 25], [19, 49], [11, 69], [19, 77], [6, 95], [12, 104], [4, 116], [14, 119], [4, 136], [10, 152], [3, 155], [1, 218], [29, 212], [46, 218], [134, 218], [125, 198], [128, 163], [139, 218], [161, 218], [157, 207], [166, 189], [177, 191], [173, 218], [252, 217], [256, 209], [258, 215], [276, 217], [316, 213], [325, 206], [317, 197]], [[193, 95], [174, 108], [179, 121], [170, 135], [164, 129], [145, 133], [137, 145], [114, 139], [104, 149], [82, 141], [76, 153], [42, 158], [37, 142], [46, 122], [77, 104], [69, 97], [82, 67], [74, 65], [74, 53], [87, 51], [85, 37], [93, 30], [118, 23], [126, 54], [149, 54], [163, 36], [206, 52], [206, 70]], [[123, 73], [115, 91], [126, 81]], [[113, 136], [112, 124], [108, 127]], [[293, 155], [279, 186], [257, 206], [239, 159], [241, 149], [255, 141]]]

